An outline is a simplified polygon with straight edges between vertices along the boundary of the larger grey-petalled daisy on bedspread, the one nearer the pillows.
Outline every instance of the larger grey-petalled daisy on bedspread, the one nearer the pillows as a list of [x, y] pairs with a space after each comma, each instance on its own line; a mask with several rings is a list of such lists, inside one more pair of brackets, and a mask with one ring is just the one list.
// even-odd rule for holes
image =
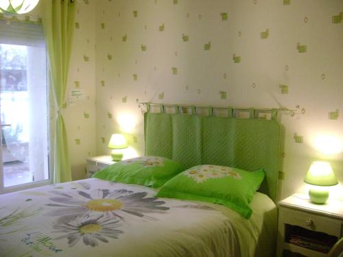
[[[51, 210], [47, 215], [59, 217], [68, 223], [76, 216], [94, 217], [103, 215], [107, 218], [138, 219], [139, 221], [156, 220], [154, 213], [164, 213], [169, 207], [163, 206], [165, 201], [155, 197], [146, 197], [147, 192], [134, 192], [128, 189], [85, 189], [82, 191], [50, 191], [56, 195], [50, 197]], [[149, 214], [149, 215], [147, 215]]]

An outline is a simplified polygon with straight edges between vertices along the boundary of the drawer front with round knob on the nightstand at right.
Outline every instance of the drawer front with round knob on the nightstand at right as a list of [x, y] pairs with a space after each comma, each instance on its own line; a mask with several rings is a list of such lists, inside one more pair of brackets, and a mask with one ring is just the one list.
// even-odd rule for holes
[[284, 207], [281, 210], [281, 215], [285, 224], [298, 225], [307, 230], [341, 237], [342, 220]]

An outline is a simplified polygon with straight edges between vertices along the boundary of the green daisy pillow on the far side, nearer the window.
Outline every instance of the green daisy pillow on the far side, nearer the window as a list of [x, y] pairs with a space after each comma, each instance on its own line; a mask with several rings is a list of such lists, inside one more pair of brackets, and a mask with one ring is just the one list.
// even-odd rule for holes
[[182, 166], [174, 160], [143, 156], [116, 162], [98, 171], [92, 178], [157, 188], [181, 171]]

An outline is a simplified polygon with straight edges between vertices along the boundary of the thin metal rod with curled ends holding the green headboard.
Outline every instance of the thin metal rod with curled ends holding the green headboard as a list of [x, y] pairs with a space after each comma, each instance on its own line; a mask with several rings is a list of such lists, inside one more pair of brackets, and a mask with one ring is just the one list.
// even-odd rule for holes
[[286, 114], [291, 114], [291, 117], [294, 117], [294, 115], [297, 112], [301, 112], [301, 114], [305, 114], [305, 108], [301, 108], [299, 105], [295, 106], [295, 109], [289, 109], [289, 108], [235, 108], [235, 107], [223, 107], [223, 106], [198, 106], [198, 105], [189, 105], [189, 104], [180, 104], [180, 103], [152, 103], [152, 102], [143, 102], [139, 101], [139, 99], [136, 99], [136, 103], [138, 104], [139, 108], [146, 107], [148, 105], [150, 106], [180, 106], [180, 107], [185, 107], [185, 108], [213, 108], [213, 109], [233, 109], [233, 110], [261, 110], [265, 112], [272, 112], [275, 111], [280, 113], [286, 113]]

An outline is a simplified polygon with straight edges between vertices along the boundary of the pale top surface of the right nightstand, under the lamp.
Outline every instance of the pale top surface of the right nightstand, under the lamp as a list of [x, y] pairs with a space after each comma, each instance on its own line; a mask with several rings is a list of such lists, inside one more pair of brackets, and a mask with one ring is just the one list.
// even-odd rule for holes
[[294, 195], [279, 201], [279, 205], [343, 219], [343, 201], [335, 199], [329, 198], [326, 204], [313, 204], [309, 200], [308, 195], [295, 193]]

